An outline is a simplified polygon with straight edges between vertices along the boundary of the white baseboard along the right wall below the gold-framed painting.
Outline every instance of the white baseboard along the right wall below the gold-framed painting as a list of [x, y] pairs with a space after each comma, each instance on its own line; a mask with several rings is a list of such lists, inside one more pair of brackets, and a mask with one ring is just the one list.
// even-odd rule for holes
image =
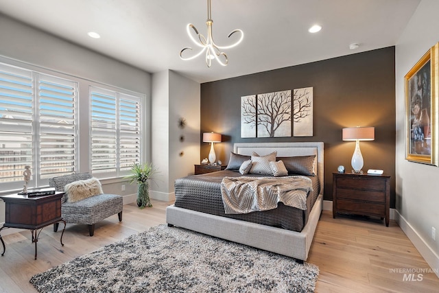
[[399, 213], [395, 211], [395, 221], [401, 227], [401, 230], [409, 237], [410, 241], [413, 243], [414, 247], [419, 251], [420, 255], [423, 256], [425, 261], [429, 264], [431, 268], [434, 268], [436, 276], [439, 277], [439, 255], [434, 252], [434, 250], [425, 242], [423, 237], [421, 237], [418, 232], [410, 225], [407, 220]]

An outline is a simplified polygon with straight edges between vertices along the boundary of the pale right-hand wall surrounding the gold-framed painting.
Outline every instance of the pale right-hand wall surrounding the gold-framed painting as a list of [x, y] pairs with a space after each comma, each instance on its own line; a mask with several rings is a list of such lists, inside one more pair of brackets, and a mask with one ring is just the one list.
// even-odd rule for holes
[[[439, 270], [439, 167], [405, 160], [404, 76], [439, 41], [439, 1], [423, 0], [396, 44], [396, 221]], [[431, 238], [436, 227], [436, 241]]]

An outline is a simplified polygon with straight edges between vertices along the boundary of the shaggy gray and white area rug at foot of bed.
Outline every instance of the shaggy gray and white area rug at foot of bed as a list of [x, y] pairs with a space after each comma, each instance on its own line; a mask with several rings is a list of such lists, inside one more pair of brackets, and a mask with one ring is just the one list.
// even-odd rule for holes
[[[92, 241], [93, 239], [91, 239]], [[160, 225], [36, 274], [38, 292], [313, 292], [318, 267]]]

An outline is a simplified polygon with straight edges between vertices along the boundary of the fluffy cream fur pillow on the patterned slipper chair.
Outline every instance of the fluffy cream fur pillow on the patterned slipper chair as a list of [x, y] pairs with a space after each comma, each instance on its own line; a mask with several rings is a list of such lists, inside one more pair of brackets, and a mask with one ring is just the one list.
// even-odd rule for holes
[[101, 183], [95, 177], [69, 183], [64, 187], [64, 191], [67, 195], [67, 202], [79, 202], [104, 193]]

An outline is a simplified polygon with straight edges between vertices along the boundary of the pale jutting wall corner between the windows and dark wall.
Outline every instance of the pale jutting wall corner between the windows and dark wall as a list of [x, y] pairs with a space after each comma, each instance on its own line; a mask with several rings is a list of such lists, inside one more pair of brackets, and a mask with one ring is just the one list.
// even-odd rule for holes
[[[178, 127], [185, 118], [187, 126]], [[185, 141], [180, 141], [180, 136]], [[152, 75], [152, 163], [160, 172], [151, 198], [174, 200], [174, 181], [200, 162], [200, 84], [174, 71]]]

